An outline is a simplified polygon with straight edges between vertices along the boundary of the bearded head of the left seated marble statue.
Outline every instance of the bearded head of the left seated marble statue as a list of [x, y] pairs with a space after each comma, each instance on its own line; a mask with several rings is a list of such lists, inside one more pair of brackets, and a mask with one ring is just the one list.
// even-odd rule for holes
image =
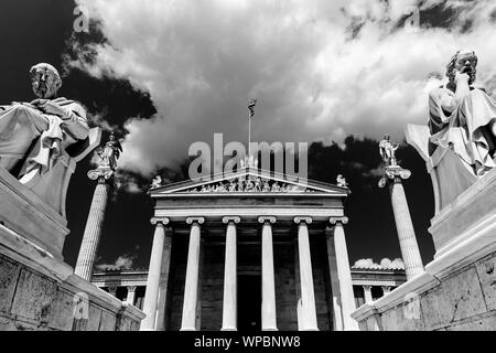
[[57, 69], [50, 64], [36, 64], [31, 67], [31, 84], [39, 98], [53, 98], [62, 86], [62, 78]]

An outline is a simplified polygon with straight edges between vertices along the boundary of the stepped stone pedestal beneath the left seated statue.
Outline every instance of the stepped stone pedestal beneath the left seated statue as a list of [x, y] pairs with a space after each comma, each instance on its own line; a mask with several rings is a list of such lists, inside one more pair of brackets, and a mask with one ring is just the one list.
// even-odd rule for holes
[[66, 221], [0, 168], [0, 331], [129, 331], [144, 314], [62, 260]]

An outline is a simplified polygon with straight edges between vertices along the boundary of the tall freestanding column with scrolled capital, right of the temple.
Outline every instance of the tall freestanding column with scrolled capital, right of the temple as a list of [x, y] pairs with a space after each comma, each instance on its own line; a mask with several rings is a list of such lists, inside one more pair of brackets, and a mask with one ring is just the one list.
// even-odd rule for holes
[[401, 180], [410, 178], [411, 172], [399, 165], [386, 167], [385, 176], [379, 181], [379, 186], [389, 184], [392, 212], [395, 214], [396, 228], [400, 243], [401, 257], [405, 263], [407, 279], [423, 272], [422, 258], [417, 244], [416, 232], [408, 208], [407, 196]]

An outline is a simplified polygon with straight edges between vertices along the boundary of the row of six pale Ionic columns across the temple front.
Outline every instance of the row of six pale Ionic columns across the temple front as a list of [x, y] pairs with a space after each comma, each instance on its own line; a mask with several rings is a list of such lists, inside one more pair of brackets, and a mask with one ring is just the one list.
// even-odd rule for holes
[[[317, 328], [315, 293], [313, 286], [312, 261], [310, 252], [310, 239], [308, 225], [312, 223], [311, 217], [294, 217], [298, 224], [298, 270], [300, 274], [299, 301], [299, 328], [305, 331], [315, 331]], [[201, 225], [204, 217], [188, 217], [186, 223], [191, 225], [190, 243], [187, 250], [186, 278], [184, 286], [184, 301], [182, 311], [181, 331], [200, 330], [200, 264], [201, 264]], [[223, 331], [237, 330], [237, 232], [236, 225], [240, 222], [238, 216], [223, 218], [226, 224], [226, 247], [224, 268], [224, 298], [223, 298]], [[277, 331], [276, 312], [276, 282], [273, 267], [273, 242], [272, 224], [274, 216], [260, 216], [258, 222], [262, 225], [261, 237], [261, 274], [262, 274], [262, 303], [261, 303], [261, 325], [263, 331]], [[356, 330], [357, 323], [352, 319], [351, 313], [355, 310], [352, 276], [349, 272], [349, 261], [344, 238], [343, 224], [347, 223], [346, 217], [331, 218], [334, 225], [333, 252], [337, 259], [335, 268], [339, 286], [333, 288], [333, 292], [339, 297], [339, 310], [342, 317], [342, 330]], [[147, 291], [143, 303], [143, 311], [147, 314], [141, 323], [141, 330], [154, 330], [157, 328], [157, 312], [159, 302], [159, 282], [162, 266], [162, 253], [164, 245], [164, 225], [169, 224], [168, 218], [153, 218], [155, 234], [150, 259]], [[337, 256], [336, 256], [337, 255]]]

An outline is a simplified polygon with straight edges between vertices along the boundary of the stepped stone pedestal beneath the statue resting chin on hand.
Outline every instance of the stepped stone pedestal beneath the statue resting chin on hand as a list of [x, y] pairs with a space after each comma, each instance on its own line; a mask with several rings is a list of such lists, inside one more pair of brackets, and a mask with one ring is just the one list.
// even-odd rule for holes
[[496, 170], [434, 218], [435, 257], [382, 298], [358, 308], [360, 330], [496, 330]]

